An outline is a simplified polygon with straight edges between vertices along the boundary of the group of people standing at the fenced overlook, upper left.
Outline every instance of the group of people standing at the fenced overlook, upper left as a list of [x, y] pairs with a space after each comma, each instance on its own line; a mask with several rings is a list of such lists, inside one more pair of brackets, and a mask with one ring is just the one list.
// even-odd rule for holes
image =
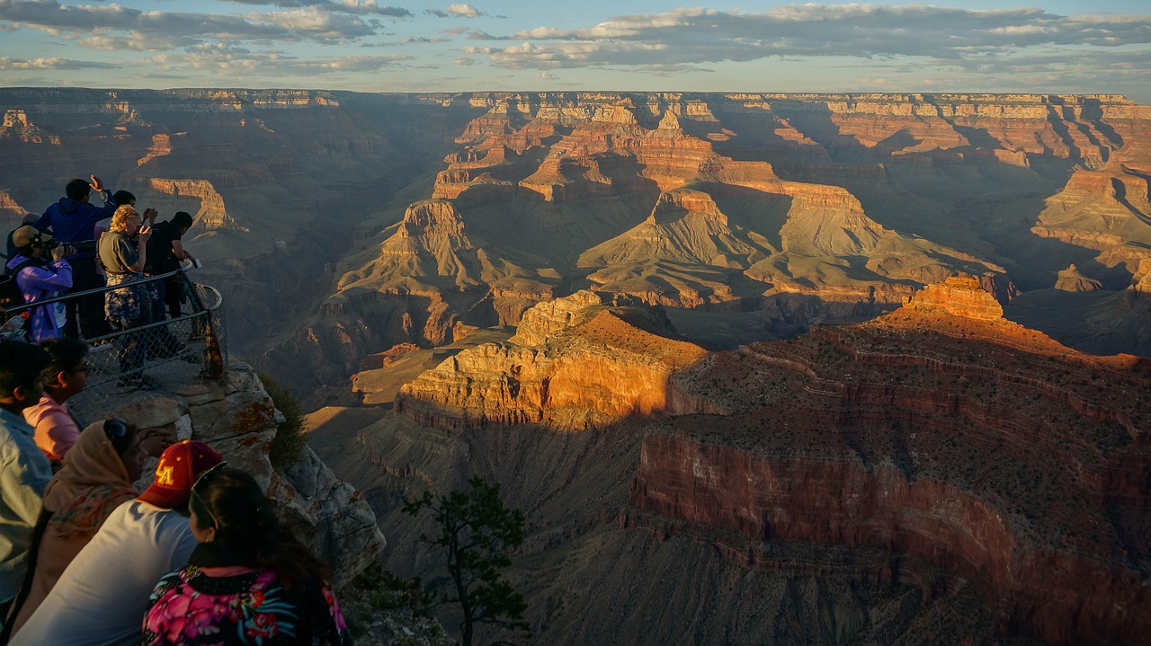
[[[25, 217], [8, 238], [5, 270], [15, 276], [24, 303], [33, 306], [28, 310], [28, 338], [33, 343], [60, 337], [92, 340], [168, 316], [178, 318], [188, 297], [186, 282], [175, 276], [142, 282], [181, 269], [182, 261], [195, 261], [182, 240], [193, 218], [177, 212], [157, 223], [157, 216], [152, 208], [138, 213], [132, 193], [113, 193], [93, 175], [89, 180], [69, 182], [64, 197], [43, 215]], [[121, 287], [85, 293], [105, 285]], [[77, 295], [36, 305], [61, 294]], [[147, 353], [171, 356], [183, 347], [167, 328], [152, 330], [147, 338], [124, 334], [117, 348], [120, 386], [155, 387], [143, 370]]]

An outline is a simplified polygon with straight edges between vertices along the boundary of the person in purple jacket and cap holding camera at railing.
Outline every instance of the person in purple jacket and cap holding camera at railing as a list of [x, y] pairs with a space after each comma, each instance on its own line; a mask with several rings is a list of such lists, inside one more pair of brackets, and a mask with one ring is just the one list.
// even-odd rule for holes
[[[54, 299], [61, 291], [73, 286], [73, 269], [64, 260], [73, 251], [70, 246], [56, 243], [52, 236], [28, 224], [13, 232], [12, 241], [16, 247], [16, 255], [8, 261], [7, 268], [16, 275], [16, 286], [24, 295], [25, 303]], [[51, 262], [47, 257], [49, 254]], [[63, 321], [62, 302], [33, 307], [28, 336], [37, 344], [59, 338]]]

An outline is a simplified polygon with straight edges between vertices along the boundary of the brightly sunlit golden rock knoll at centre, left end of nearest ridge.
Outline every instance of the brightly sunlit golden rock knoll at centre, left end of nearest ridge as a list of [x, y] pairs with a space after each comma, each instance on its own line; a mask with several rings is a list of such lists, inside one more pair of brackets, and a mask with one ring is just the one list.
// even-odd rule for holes
[[[541, 313], [526, 316], [511, 343], [465, 349], [405, 384], [396, 410], [449, 429], [544, 422], [573, 430], [708, 410], [674, 383], [704, 351], [646, 331], [666, 324], [648, 308], [610, 303], [580, 292], [536, 306]], [[562, 309], [573, 316], [557, 331], [551, 321]], [[520, 345], [528, 340], [540, 344]]]

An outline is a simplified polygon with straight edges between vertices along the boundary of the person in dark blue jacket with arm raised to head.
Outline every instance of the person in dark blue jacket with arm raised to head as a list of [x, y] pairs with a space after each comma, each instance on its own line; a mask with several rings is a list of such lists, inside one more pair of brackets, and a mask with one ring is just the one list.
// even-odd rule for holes
[[[105, 202], [97, 206], [91, 202], [92, 191], [99, 193]], [[64, 197], [49, 206], [32, 226], [40, 231], [52, 230], [52, 234], [64, 244], [77, 247], [67, 259], [73, 269], [73, 286], [66, 293], [83, 292], [104, 286], [102, 277], [96, 271], [96, 223], [112, 217], [116, 203], [112, 192], [104, 187], [100, 178], [92, 175], [91, 182], [73, 179], [64, 186]], [[87, 245], [78, 243], [91, 243]], [[112, 331], [104, 321], [104, 298], [101, 294], [87, 295], [67, 303], [64, 334], [78, 339], [83, 332], [85, 339], [92, 339]]]

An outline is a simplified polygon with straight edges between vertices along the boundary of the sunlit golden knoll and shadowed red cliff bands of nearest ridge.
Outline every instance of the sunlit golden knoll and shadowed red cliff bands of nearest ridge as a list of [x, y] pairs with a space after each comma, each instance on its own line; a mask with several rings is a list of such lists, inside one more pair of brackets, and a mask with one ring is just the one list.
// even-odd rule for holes
[[[954, 277], [869, 323], [704, 353], [585, 294], [525, 315], [523, 338], [542, 345], [462, 352], [396, 410], [496, 434], [650, 420], [624, 528], [886, 551], [859, 576], [923, 599], [970, 586], [1003, 636], [1137, 643], [1151, 630], [1151, 362], [1081, 354], [1001, 312]], [[638, 347], [663, 364], [638, 363]], [[565, 402], [599, 415], [565, 426]]]

